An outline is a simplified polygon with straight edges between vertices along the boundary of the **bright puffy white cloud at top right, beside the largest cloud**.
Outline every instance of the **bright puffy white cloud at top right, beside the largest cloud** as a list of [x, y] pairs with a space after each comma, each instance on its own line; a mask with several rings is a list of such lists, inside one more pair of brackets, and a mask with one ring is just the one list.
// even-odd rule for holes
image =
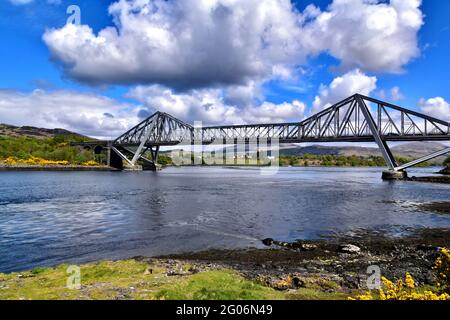
[[329, 52], [344, 68], [398, 73], [420, 54], [420, 5], [421, 0], [334, 0], [314, 14], [303, 39], [309, 50]]

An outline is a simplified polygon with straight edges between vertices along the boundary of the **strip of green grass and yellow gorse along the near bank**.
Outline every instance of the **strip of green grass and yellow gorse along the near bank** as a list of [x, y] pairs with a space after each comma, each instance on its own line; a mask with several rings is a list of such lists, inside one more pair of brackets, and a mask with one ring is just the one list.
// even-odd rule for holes
[[[161, 260], [102, 261], [79, 267], [79, 286], [71, 277], [73, 268], [36, 268], [27, 272], [0, 274], [0, 299], [90, 300], [449, 300], [450, 253], [442, 249], [433, 267], [437, 286], [417, 287], [408, 273], [396, 282], [382, 278], [381, 290], [362, 293], [344, 290], [320, 275], [305, 278], [292, 288], [290, 276], [270, 286], [262, 277], [248, 280], [237, 271], [220, 266], [197, 269], [188, 262]], [[291, 288], [290, 290], [287, 290]]]

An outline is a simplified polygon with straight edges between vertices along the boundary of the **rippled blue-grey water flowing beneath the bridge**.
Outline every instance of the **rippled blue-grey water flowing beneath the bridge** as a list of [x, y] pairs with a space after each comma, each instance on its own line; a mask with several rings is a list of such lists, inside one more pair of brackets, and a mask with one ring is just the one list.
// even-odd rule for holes
[[380, 176], [379, 168], [0, 172], [0, 272], [260, 247], [267, 237], [450, 227], [449, 215], [414, 205], [450, 200], [449, 185]]

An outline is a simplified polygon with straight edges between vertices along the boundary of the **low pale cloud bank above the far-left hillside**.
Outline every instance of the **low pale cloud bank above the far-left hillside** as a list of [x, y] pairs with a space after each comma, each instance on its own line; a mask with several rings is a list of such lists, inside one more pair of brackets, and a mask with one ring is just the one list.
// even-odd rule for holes
[[64, 128], [98, 138], [115, 138], [136, 125], [139, 107], [73, 91], [0, 90], [0, 119], [7, 124]]

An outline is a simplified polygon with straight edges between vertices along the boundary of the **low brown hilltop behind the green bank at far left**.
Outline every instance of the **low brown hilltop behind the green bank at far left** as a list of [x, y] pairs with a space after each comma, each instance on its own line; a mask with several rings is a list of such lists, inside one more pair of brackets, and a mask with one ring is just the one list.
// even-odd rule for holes
[[29, 137], [29, 138], [53, 138], [55, 136], [78, 136], [86, 138], [81, 134], [71, 132], [66, 129], [59, 129], [59, 128], [46, 129], [30, 126], [17, 127], [1, 123], [0, 123], [0, 135], [8, 137]]

